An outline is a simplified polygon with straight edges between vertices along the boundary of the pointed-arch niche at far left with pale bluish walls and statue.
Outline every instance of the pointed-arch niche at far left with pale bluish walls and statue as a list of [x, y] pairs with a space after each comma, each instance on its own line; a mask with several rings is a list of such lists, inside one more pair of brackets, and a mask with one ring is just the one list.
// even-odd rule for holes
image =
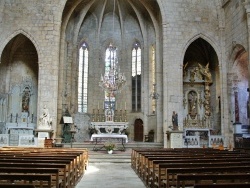
[[[21, 121], [27, 113], [29, 123], [36, 121], [38, 91], [38, 53], [23, 34], [13, 37], [4, 47], [0, 64], [0, 95], [5, 96], [6, 123]], [[12, 118], [13, 117], [13, 118]], [[19, 121], [19, 122], [20, 122]]]

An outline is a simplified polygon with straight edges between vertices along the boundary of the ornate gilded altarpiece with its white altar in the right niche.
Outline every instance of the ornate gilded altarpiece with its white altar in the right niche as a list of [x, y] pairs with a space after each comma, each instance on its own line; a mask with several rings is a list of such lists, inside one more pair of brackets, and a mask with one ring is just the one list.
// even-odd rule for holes
[[198, 62], [183, 68], [183, 147], [209, 147], [212, 127], [209, 63]]

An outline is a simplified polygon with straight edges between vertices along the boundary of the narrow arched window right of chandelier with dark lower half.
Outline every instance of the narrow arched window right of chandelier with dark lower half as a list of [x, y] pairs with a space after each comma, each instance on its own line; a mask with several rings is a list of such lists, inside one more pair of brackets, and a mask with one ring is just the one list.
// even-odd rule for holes
[[141, 110], [141, 46], [135, 42], [132, 49], [132, 111]]

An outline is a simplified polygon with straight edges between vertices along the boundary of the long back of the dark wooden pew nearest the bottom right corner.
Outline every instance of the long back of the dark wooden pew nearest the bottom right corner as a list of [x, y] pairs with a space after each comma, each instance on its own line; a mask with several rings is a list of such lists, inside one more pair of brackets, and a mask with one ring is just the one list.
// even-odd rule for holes
[[[200, 183], [202, 181], [210, 181], [211, 183], [216, 183], [218, 181], [228, 181], [230, 182], [250, 182], [250, 173], [232, 173], [232, 174], [178, 174], [177, 175], [177, 188], [185, 188], [186, 182], [190, 186], [190, 181], [195, 183]], [[193, 183], [193, 185], [195, 184]]]

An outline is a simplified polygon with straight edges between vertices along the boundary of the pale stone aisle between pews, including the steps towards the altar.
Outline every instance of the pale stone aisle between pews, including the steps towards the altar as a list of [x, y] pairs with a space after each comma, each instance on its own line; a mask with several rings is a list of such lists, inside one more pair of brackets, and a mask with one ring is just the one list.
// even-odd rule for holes
[[89, 152], [89, 167], [76, 188], [145, 188], [131, 168], [131, 150]]

